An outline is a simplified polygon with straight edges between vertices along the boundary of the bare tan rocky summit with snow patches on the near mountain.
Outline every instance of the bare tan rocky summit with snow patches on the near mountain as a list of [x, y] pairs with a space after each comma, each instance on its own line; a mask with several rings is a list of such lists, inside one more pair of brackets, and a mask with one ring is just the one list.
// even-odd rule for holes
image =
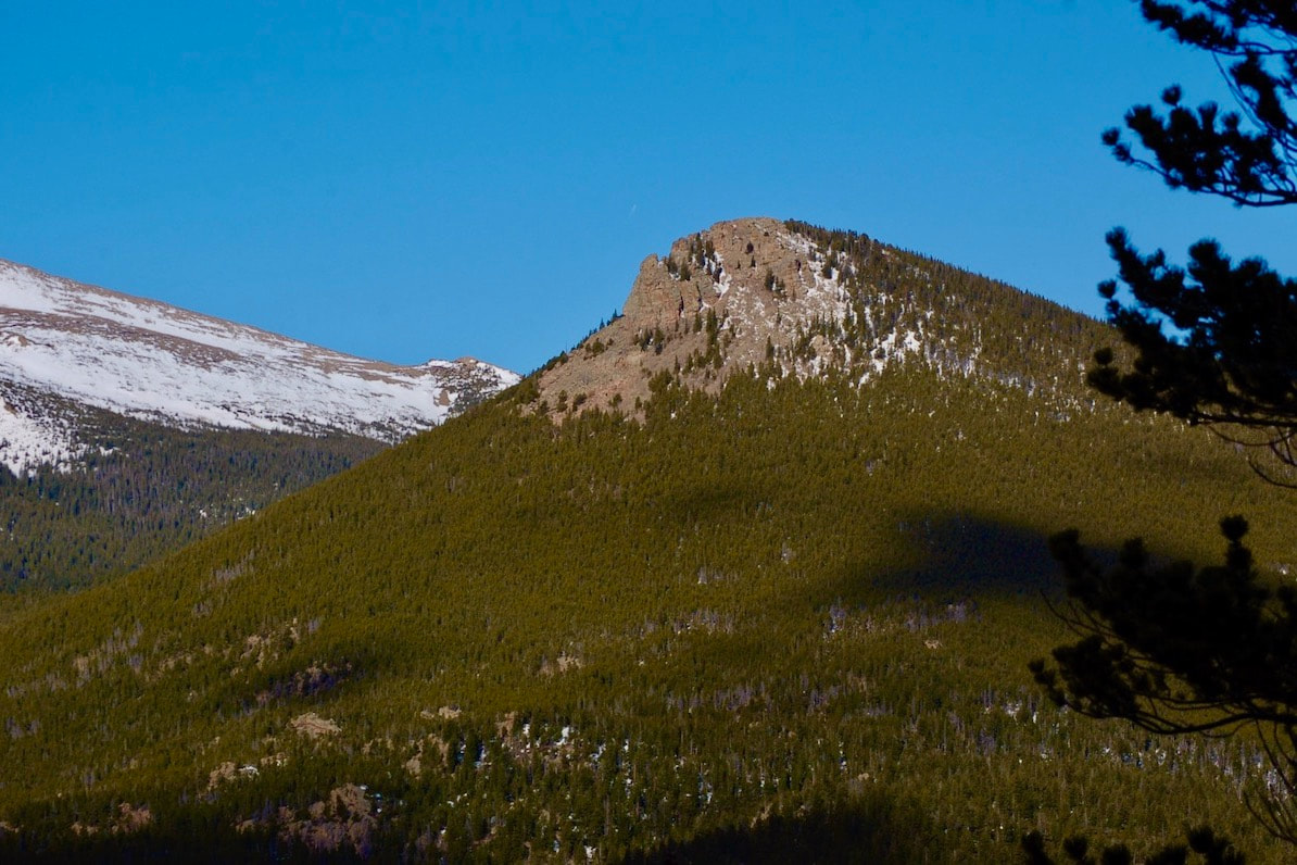
[[[870, 243], [868, 254], [891, 253]], [[933, 333], [933, 309], [908, 290], [870, 283], [857, 265], [768, 218], [682, 237], [667, 257], [645, 258], [621, 318], [542, 373], [543, 407], [636, 411], [656, 375], [716, 390], [732, 373], [767, 363], [779, 376], [834, 371], [861, 385], [909, 362], [943, 375], [973, 371], [975, 335], [956, 338], [948, 322]]]

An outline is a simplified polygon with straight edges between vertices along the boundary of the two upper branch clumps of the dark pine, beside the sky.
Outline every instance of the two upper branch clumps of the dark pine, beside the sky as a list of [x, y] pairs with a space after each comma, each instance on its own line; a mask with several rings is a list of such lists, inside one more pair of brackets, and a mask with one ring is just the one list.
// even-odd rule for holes
[[[1143, 0], [1144, 17], [1180, 43], [1209, 52], [1237, 112], [1213, 102], [1136, 105], [1126, 114], [1136, 149], [1117, 128], [1104, 132], [1113, 156], [1158, 174], [1171, 188], [1220, 196], [1239, 206], [1297, 204], [1297, 8], [1289, 0]], [[1157, 250], [1141, 255], [1124, 230], [1108, 235], [1119, 279], [1100, 285], [1109, 319], [1136, 353], [1121, 367], [1112, 350], [1096, 354], [1089, 381], [1136, 409], [1170, 412], [1193, 424], [1268, 449], [1293, 467], [1297, 432], [1297, 281], [1259, 258], [1235, 263], [1204, 240], [1187, 268]], [[1259, 471], [1262, 469], [1259, 464]], [[1283, 480], [1272, 473], [1271, 480]]]

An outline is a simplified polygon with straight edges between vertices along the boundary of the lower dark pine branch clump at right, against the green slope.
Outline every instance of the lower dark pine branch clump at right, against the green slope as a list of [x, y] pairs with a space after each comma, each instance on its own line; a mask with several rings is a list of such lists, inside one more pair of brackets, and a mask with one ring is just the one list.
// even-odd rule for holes
[[1058, 704], [1160, 734], [1255, 730], [1275, 769], [1253, 812], [1297, 843], [1297, 589], [1261, 585], [1243, 545], [1248, 523], [1220, 521], [1224, 563], [1156, 564], [1139, 539], [1112, 568], [1075, 530], [1051, 538], [1075, 602], [1061, 612], [1082, 639], [1031, 672]]

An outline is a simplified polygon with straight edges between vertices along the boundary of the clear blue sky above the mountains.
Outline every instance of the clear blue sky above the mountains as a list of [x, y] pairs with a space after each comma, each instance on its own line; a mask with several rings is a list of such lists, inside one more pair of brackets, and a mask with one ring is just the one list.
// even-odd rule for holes
[[1297, 213], [1100, 144], [1169, 83], [1223, 96], [1128, 0], [5, 3], [0, 32], [0, 257], [399, 363], [534, 368], [742, 215], [1091, 314], [1114, 224], [1297, 271]]

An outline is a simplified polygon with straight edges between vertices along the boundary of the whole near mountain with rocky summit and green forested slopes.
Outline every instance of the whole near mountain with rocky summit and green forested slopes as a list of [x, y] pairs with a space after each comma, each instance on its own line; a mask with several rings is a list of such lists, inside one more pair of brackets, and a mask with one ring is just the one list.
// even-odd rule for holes
[[[0, 853], [1013, 861], [1210, 822], [1258, 743], [1040, 699], [1044, 537], [1267, 568], [1284, 492], [1097, 402], [1101, 326], [744, 219], [518, 386], [82, 593], [0, 608]], [[196, 843], [201, 842], [201, 843]]]

